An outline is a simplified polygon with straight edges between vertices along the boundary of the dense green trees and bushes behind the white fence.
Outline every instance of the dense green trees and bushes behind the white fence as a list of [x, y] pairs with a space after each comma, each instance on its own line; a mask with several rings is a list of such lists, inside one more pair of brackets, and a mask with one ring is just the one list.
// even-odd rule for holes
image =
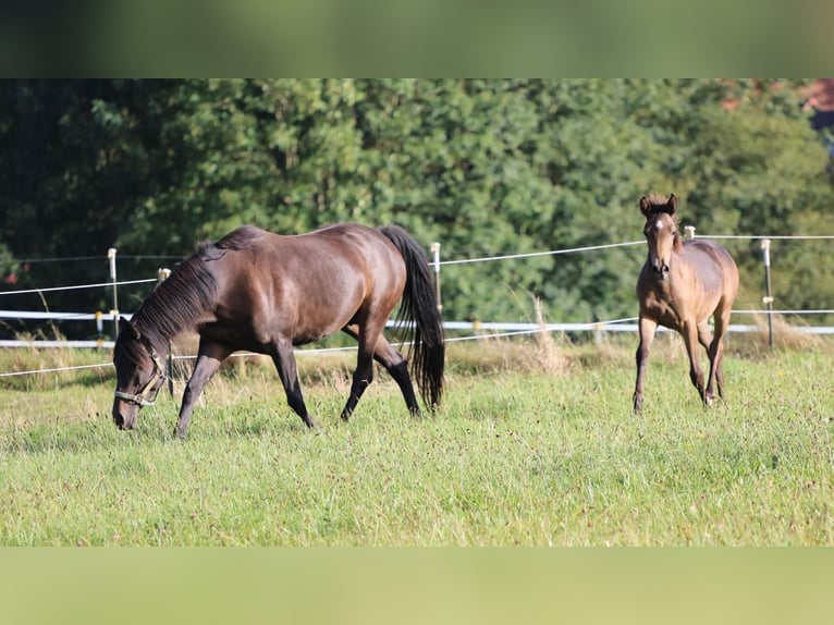
[[[652, 192], [675, 192], [699, 233], [830, 232], [829, 157], [800, 110], [802, 85], [14, 81], [0, 94], [0, 244], [13, 259], [103, 257], [111, 245], [182, 257], [242, 223], [298, 233], [397, 222], [427, 248], [440, 242], [443, 259], [480, 258], [639, 240], [637, 199]], [[756, 242], [734, 252], [757, 292]], [[536, 295], [553, 319], [631, 316], [642, 256], [617, 248], [450, 266], [444, 315], [515, 320]], [[829, 281], [811, 269], [832, 274], [832, 259], [774, 258], [807, 268], [777, 281], [777, 298], [793, 308], [830, 301]], [[121, 275], [149, 278], [160, 264]], [[20, 284], [90, 282], [90, 272], [38, 264]], [[147, 292], [124, 291], [131, 305]], [[54, 294], [49, 305], [107, 309], [105, 299]]]

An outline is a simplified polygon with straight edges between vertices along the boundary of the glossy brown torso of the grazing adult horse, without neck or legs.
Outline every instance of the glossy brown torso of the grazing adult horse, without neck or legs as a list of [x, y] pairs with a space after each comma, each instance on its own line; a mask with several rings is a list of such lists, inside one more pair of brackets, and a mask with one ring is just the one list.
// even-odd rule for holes
[[380, 232], [354, 223], [303, 234], [242, 226], [218, 242], [220, 305], [247, 318], [258, 336], [274, 331], [298, 343], [365, 316], [388, 316], [406, 282], [405, 264]]

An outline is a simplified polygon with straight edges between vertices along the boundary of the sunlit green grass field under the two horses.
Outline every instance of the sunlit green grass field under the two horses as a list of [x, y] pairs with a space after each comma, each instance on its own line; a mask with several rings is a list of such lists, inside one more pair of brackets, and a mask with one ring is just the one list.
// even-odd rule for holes
[[[408, 417], [380, 373], [349, 424], [349, 357], [302, 356], [319, 434], [248, 359], [185, 442], [182, 380], [121, 432], [112, 369], [2, 378], [0, 544], [834, 544], [834, 345], [732, 336], [708, 409], [663, 335], [635, 416], [633, 339], [453, 344], [436, 416]], [[9, 352], [0, 370], [108, 358]]]

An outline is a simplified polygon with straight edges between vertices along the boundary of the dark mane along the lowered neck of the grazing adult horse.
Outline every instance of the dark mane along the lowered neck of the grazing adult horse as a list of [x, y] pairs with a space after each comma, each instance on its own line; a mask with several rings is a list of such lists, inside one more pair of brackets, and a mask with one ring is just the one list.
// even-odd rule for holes
[[133, 317], [134, 326], [151, 345], [163, 350], [168, 341], [194, 327], [200, 315], [214, 305], [214, 261], [226, 252], [246, 249], [260, 234], [257, 228], [242, 226], [218, 242], [200, 243], [143, 302]]

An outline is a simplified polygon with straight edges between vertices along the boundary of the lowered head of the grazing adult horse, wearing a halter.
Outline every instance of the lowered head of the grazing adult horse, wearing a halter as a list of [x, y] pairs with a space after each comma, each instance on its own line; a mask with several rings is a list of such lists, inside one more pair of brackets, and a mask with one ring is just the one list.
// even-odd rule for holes
[[113, 421], [122, 430], [136, 426], [139, 408], [150, 406], [165, 382], [165, 367], [157, 351], [130, 321], [119, 320], [113, 350], [115, 393]]

